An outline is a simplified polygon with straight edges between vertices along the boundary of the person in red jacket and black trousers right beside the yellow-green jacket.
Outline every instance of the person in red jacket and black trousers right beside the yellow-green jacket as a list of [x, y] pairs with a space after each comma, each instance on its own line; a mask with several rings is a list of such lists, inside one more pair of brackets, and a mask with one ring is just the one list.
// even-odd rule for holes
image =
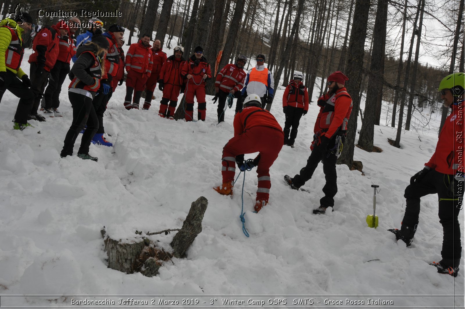
[[[66, 24], [64, 24], [62, 29], [64, 33], [67, 33], [68, 29]], [[40, 99], [44, 95], [44, 90], [48, 83], [50, 71], [53, 69], [58, 59], [60, 37], [61, 31], [57, 25], [42, 27], [34, 37], [32, 43], [34, 52], [29, 56], [28, 62], [31, 64], [29, 72], [31, 74], [31, 81], [36, 97], [31, 112], [29, 113], [30, 119], [46, 121], [44, 116], [37, 114], [37, 111], [39, 110]]]

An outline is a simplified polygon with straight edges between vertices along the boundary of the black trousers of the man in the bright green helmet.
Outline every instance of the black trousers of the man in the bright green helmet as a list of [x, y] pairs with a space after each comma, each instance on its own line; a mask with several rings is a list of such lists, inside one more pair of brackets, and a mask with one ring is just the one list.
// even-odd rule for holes
[[[453, 175], [446, 175], [435, 170], [430, 171], [418, 183], [414, 182], [405, 188], [405, 214], [402, 225], [410, 227], [419, 223], [420, 197], [429, 194], [438, 194], [438, 216], [443, 228], [443, 241], [441, 256], [443, 259], [460, 259], [462, 247], [460, 243], [460, 224], [458, 223], [458, 213], [463, 202], [463, 183], [455, 181], [455, 192], [459, 195], [450, 196], [448, 186]], [[462, 186], [459, 190], [459, 186]], [[460, 202], [460, 203], [459, 203]]]

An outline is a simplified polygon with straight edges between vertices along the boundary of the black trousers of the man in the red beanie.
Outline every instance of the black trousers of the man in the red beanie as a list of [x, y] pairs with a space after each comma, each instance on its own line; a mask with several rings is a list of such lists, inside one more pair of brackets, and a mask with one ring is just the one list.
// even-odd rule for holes
[[319, 145], [315, 145], [312, 153], [308, 157], [305, 168], [302, 168], [299, 174], [292, 178], [292, 182], [295, 186], [303, 186], [306, 181], [312, 178], [318, 163], [323, 161], [323, 173], [325, 173], [326, 180], [325, 186], [323, 187], [325, 196], [320, 199], [320, 206], [323, 207], [333, 207], [334, 196], [338, 193], [338, 175], [336, 173], [336, 161], [338, 158], [334, 153], [327, 150], [333, 148], [334, 144], [335, 139], [333, 138], [329, 141], [327, 148], [324, 150], [322, 150]]

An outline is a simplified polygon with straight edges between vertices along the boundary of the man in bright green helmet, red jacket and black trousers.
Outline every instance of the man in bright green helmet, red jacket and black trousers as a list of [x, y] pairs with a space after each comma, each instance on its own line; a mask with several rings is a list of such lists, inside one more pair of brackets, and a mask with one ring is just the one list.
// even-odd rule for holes
[[430, 161], [410, 178], [410, 185], [405, 188], [405, 214], [400, 222], [400, 229], [389, 229], [397, 240], [401, 239], [409, 247], [419, 223], [420, 197], [437, 193], [439, 222], [442, 224], [444, 237], [442, 260], [432, 262], [431, 265], [436, 266], [438, 273], [454, 277], [457, 276], [462, 253], [458, 212], [462, 209], [464, 194], [464, 164], [461, 159], [465, 147], [462, 116], [464, 89], [464, 73], [447, 75], [439, 84], [438, 91], [441, 92], [444, 106], [450, 107], [452, 113], [444, 122]]

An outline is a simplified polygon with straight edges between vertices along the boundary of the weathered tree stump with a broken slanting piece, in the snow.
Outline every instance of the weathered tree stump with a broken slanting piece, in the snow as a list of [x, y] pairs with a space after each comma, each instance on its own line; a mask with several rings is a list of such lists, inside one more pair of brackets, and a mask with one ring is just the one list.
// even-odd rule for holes
[[[186, 257], [186, 251], [194, 241], [195, 237], [202, 231], [202, 220], [206, 211], [208, 201], [205, 197], [200, 196], [195, 202], [192, 202], [189, 214], [184, 220], [182, 228], [174, 236], [171, 247], [173, 253], [160, 248], [157, 242], [153, 242], [136, 231], [138, 236], [129, 237], [125, 241], [114, 240], [106, 234], [105, 227], [101, 230], [104, 238], [106, 254], [108, 256], [108, 268], [133, 274], [140, 272], [142, 275], [152, 277], [159, 273], [159, 268], [163, 262], [172, 261], [172, 257]], [[162, 231], [167, 235], [172, 230]], [[162, 234], [145, 233], [145, 235]]]

